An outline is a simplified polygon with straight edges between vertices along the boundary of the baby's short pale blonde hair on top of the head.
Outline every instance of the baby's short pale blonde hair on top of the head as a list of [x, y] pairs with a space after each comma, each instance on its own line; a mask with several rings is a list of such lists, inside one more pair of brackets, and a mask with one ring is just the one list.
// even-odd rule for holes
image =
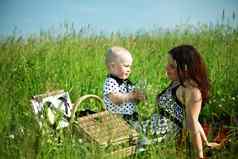
[[120, 63], [120, 60], [123, 56], [131, 56], [130, 52], [123, 47], [113, 46], [108, 49], [106, 53], [105, 63], [107, 66], [111, 63]]

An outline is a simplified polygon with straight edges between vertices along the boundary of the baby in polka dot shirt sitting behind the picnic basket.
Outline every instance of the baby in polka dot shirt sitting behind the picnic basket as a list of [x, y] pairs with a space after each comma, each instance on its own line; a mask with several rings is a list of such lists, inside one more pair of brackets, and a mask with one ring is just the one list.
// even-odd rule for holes
[[133, 62], [130, 52], [122, 47], [112, 47], [106, 53], [105, 62], [108, 69], [103, 88], [106, 110], [122, 114], [129, 123], [137, 121], [136, 102], [145, 100], [145, 96], [128, 79]]

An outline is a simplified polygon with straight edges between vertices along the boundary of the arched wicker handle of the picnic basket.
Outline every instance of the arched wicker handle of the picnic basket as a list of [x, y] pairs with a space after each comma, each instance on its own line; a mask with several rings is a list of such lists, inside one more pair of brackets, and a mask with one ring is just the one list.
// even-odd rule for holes
[[74, 107], [73, 107], [72, 115], [71, 115], [71, 119], [70, 119], [70, 123], [73, 123], [74, 117], [75, 117], [75, 113], [76, 113], [78, 107], [80, 106], [80, 104], [81, 104], [83, 101], [88, 100], [88, 99], [95, 99], [95, 100], [99, 101], [99, 102], [102, 104], [102, 106], [104, 106], [104, 102], [103, 102], [102, 98], [99, 97], [99, 96], [97, 96], [97, 95], [87, 94], [87, 95], [84, 95], [84, 96], [82, 96], [82, 97], [79, 97], [79, 98], [77, 99], [77, 101], [76, 101]]

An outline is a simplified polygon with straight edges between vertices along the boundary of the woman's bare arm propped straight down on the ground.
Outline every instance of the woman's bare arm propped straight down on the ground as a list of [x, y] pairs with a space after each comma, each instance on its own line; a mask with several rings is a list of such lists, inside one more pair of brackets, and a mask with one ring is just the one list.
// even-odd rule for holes
[[207, 138], [198, 121], [202, 107], [202, 95], [198, 88], [185, 88], [186, 124], [192, 137], [193, 147], [198, 158], [203, 158], [203, 141]]

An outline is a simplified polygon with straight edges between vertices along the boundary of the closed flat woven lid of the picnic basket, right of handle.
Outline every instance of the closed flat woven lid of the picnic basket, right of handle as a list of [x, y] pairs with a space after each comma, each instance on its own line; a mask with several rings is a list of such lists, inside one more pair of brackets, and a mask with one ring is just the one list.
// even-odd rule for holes
[[99, 145], [121, 144], [136, 141], [138, 133], [116, 114], [107, 111], [78, 119], [79, 127], [89, 140]]

